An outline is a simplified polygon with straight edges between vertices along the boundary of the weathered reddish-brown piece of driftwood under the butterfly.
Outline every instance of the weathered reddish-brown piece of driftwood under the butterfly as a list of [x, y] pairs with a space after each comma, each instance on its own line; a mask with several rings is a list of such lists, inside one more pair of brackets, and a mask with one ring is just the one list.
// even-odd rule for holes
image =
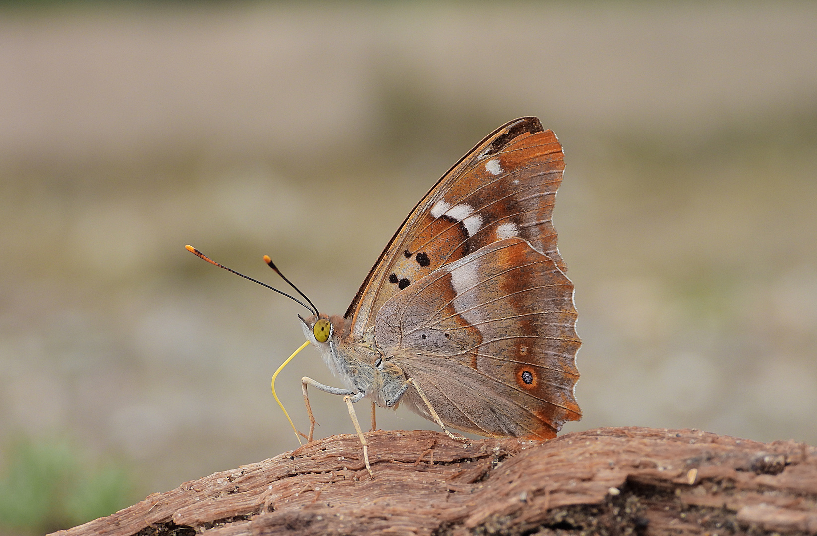
[[368, 433], [152, 494], [55, 535], [815, 534], [817, 449], [695, 430], [555, 440]]

